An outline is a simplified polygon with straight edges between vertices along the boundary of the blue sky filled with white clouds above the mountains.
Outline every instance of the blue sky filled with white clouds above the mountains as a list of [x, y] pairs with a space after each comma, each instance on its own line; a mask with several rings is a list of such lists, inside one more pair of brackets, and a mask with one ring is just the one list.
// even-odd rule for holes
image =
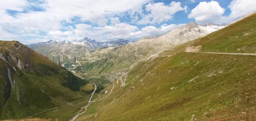
[[139, 40], [189, 22], [231, 23], [256, 0], [0, 0], [0, 40]]

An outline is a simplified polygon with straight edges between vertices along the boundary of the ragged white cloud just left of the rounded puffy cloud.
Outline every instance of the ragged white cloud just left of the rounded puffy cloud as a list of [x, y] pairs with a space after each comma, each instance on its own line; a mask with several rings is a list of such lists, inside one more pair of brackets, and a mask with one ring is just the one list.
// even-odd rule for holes
[[164, 3], [149, 3], [145, 6], [145, 10], [149, 13], [144, 15], [142, 20], [138, 21], [137, 24], [160, 24], [164, 21], [171, 20], [176, 12], [185, 11], [185, 8], [180, 5], [180, 2], [174, 1], [169, 5], [165, 5]]

